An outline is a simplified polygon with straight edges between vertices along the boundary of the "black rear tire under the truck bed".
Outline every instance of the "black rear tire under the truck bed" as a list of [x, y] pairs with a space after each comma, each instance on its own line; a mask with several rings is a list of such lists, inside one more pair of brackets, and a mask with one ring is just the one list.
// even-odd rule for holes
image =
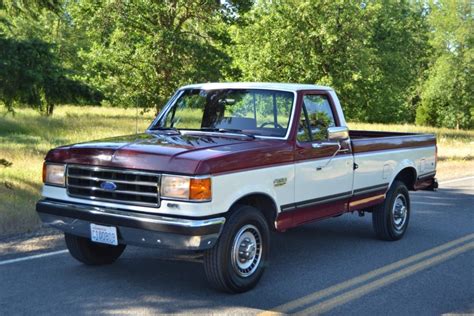
[[[400, 207], [403, 203], [405, 209]], [[401, 239], [408, 227], [410, 210], [410, 195], [406, 185], [394, 181], [385, 201], [373, 208], [372, 224], [377, 237], [389, 241]]]

